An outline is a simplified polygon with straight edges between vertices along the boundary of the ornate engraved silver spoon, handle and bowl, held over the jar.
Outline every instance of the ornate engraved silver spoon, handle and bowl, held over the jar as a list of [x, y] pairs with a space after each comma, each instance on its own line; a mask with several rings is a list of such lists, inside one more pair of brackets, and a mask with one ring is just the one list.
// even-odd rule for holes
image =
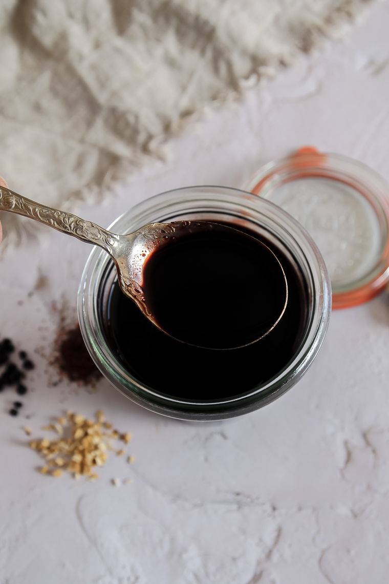
[[[239, 231], [232, 227], [206, 221], [174, 221], [173, 223], [166, 224], [153, 223], [145, 225], [141, 229], [127, 235], [116, 235], [99, 227], [99, 225], [80, 219], [76, 215], [46, 207], [40, 203], [26, 199], [3, 186], [0, 186], [0, 211], [9, 211], [10, 213], [29, 217], [40, 223], [49, 225], [57, 231], [72, 235], [88, 244], [100, 246], [113, 259], [117, 269], [118, 284], [124, 294], [138, 305], [145, 317], [153, 322], [155, 326], [181, 342], [211, 349], [234, 349], [250, 345], [267, 335], [275, 327], [285, 311], [288, 302], [288, 283], [286, 282], [281, 263], [279, 263], [274, 253], [267, 246], [258, 242], [257, 239], [251, 238], [249, 235], [240, 234]], [[190, 335], [188, 337], [185, 332], [185, 322], [182, 322], [182, 326], [180, 322], [178, 329], [174, 329], [170, 328], [170, 324], [166, 320], [161, 322], [158, 319], [158, 315], [153, 308], [153, 303], [147, 294], [145, 294], [143, 281], [145, 266], [153, 253], [164, 248], [166, 245], [170, 245], [173, 240], [177, 243], [188, 235], [215, 231], [223, 232], [223, 234], [235, 234], [235, 237], [239, 233], [243, 237], [255, 241], [255, 244], [263, 246], [266, 261], [271, 263], [271, 269], [274, 270], [275, 279], [277, 280], [275, 284], [277, 288], [277, 300], [276, 302], [274, 301], [274, 294], [271, 291], [270, 296], [269, 294], [266, 296], [266, 298], [270, 299], [268, 304], [272, 305], [271, 310], [268, 310], [268, 307], [264, 306], [264, 317], [260, 317], [259, 320], [257, 319], [255, 326], [253, 322], [250, 322], [250, 326], [248, 327], [250, 331], [240, 331], [238, 326], [237, 335], [233, 337], [233, 340], [230, 339], [227, 341], [225, 340], [225, 335], [219, 335], [219, 338], [223, 337], [223, 340], [221, 342], [219, 340], [216, 341], [215, 338], [212, 338], [212, 331], [211, 340], [207, 338], [209, 331], [204, 331], [203, 339], [202, 329], [199, 329], [195, 331], [195, 336], [193, 337], [197, 339], [196, 342], [190, 342], [188, 340]], [[241, 303], [242, 298], [239, 298], [233, 290], [233, 284], [237, 281], [237, 267], [239, 266], [231, 266], [230, 276], [232, 288], [230, 295], [232, 302]], [[239, 276], [241, 277], [241, 274]], [[157, 282], [155, 286], [153, 284], [153, 296], [156, 296], [155, 288], [157, 284]], [[198, 287], [198, 294], [206, 293], [206, 281], [204, 282], [201, 279], [200, 274], [198, 275], [197, 281], [194, 281], [194, 285]], [[174, 295], [174, 293], [175, 291], [171, 290], [171, 295]], [[258, 298], [260, 297], [258, 296]], [[212, 301], [215, 301], [215, 299]], [[172, 314], [171, 317], [173, 320], [176, 318], [177, 321], [177, 315]], [[179, 332], [181, 329], [184, 331], [182, 334]], [[129, 331], [129, 334], [131, 334], [131, 331]]]

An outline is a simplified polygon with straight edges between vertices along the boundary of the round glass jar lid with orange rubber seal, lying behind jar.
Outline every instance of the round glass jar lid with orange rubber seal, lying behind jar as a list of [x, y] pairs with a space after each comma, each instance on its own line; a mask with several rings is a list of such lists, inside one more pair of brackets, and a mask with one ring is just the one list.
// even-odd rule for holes
[[316, 148], [262, 166], [243, 187], [288, 211], [316, 242], [332, 307], [377, 296], [389, 280], [389, 185], [360, 162]]

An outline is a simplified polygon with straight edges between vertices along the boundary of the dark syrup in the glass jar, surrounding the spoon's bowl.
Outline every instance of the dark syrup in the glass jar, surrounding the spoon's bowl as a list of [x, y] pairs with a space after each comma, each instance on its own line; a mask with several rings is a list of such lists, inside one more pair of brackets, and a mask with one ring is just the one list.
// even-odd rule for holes
[[[230, 225], [230, 227], [235, 226]], [[275, 377], [292, 359], [299, 346], [307, 316], [307, 297], [302, 276], [297, 271], [296, 265], [282, 253], [278, 246], [249, 230], [247, 234], [275, 253], [288, 281], [288, 304], [281, 320], [264, 338], [251, 345], [232, 350], [213, 350], [173, 339], [157, 329], [135, 303], [121, 292], [117, 281], [114, 282], [107, 305], [107, 340], [124, 369], [139, 382], [157, 392], [179, 399], [195, 401], [226, 399], [248, 392]], [[234, 284], [235, 288], [229, 300], [231, 305], [225, 305], [220, 310], [220, 314], [224, 311], [230, 315], [232, 329], [236, 325], [236, 322], [233, 322], [234, 316], [239, 311], [242, 314], [241, 303], [247, 302], [244, 295], [245, 284], [253, 284], [254, 281], [250, 279], [247, 269], [250, 268], [250, 262], [255, 262], [255, 259], [260, 260], [261, 255], [262, 246], [252, 239], [248, 241], [251, 247], [249, 251], [247, 242], [240, 251], [237, 251], [236, 242], [234, 242], [233, 246], [225, 245], [223, 252], [220, 248], [219, 255], [210, 256], [209, 260], [210, 266], [213, 265], [215, 270], [217, 266], [219, 271], [220, 265], [228, 262], [229, 259], [235, 265], [241, 264], [243, 267], [242, 270], [236, 270], [241, 274], [241, 279], [237, 279]], [[199, 250], [201, 254], [204, 252], [201, 246]], [[157, 262], [157, 255], [154, 258], [155, 262], [150, 262], [150, 273], [146, 272], [145, 280], [149, 275], [150, 281], [155, 281], [155, 276], [159, 275], [160, 290], [165, 287], [165, 291], [169, 292], [166, 286], [171, 284], [173, 287], [174, 283], [171, 283], [169, 278], [164, 279], [163, 270], [159, 270], [159, 266], [169, 265], [169, 246], [162, 255], [160, 264]], [[190, 261], [185, 262], [184, 256], [181, 258], [181, 276], [185, 272], [185, 278], [192, 277], [193, 290], [195, 287], [198, 289], [199, 277], [195, 256], [194, 246]], [[201, 260], [204, 260], [204, 256], [201, 256]], [[176, 270], [176, 273], [180, 272]], [[217, 278], [215, 284], [217, 288]], [[249, 287], [246, 285], [247, 289]], [[208, 283], [204, 298], [208, 298], [208, 301], [209, 298], [213, 298], [214, 303], [217, 296], [216, 288], [215, 294], [212, 294]], [[158, 291], [156, 291], [156, 296], [157, 294]], [[166, 298], [169, 300], [168, 297]], [[257, 308], [253, 297], [250, 296], [248, 300], [253, 304], [251, 310], [255, 314]], [[224, 299], [223, 302], [225, 302]], [[236, 307], [236, 314], [234, 314], [234, 307]], [[223, 333], [227, 330], [228, 326], [226, 327], [226, 323], [223, 322]]]

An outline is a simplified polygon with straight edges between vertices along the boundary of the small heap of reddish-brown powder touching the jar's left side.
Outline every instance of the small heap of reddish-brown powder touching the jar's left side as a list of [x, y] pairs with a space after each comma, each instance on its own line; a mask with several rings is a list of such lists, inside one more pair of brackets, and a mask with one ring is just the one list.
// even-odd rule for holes
[[78, 323], [74, 328], [62, 331], [57, 340], [57, 364], [70, 381], [90, 385], [102, 377], [87, 352]]

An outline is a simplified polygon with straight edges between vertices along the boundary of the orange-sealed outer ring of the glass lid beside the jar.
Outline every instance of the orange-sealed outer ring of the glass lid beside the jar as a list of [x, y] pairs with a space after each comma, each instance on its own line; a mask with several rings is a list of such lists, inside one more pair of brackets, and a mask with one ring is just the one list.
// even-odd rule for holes
[[[331, 282], [334, 309], [348, 308], [371, 300], [381, 293], [389, 281], [389, 185], [377, 172], [353, 158], [320, 152], [314, 147], [303, 147], [288, 157], [262, 166], [243, 188], [264, 199], [272, 200], [273, 197], [279, 197], [285, 185], [295, 181], [296, 186], [301, 185], [302, 179], [311, 181], [331, 179], [334, 185], [349, 187], [366, 201], [366, 218], [369, 214], [376, 217], [377, 251], [376, 253], [372, 251], [370, 262], [358, 277], [351, 276], [341, 285], [333, 279]], [[288, 201], [286, 203], [288, 206]], [[308, 212], [306, 223], [311, 221]], [[322, 240], [325, 235], [323, 234], [324, 231], [321, 231]], [[328, 231], [327, 241], [333, 238], [333, 235], [333, 232]], [[373, 250], [373, 244], [371, 249]]]

